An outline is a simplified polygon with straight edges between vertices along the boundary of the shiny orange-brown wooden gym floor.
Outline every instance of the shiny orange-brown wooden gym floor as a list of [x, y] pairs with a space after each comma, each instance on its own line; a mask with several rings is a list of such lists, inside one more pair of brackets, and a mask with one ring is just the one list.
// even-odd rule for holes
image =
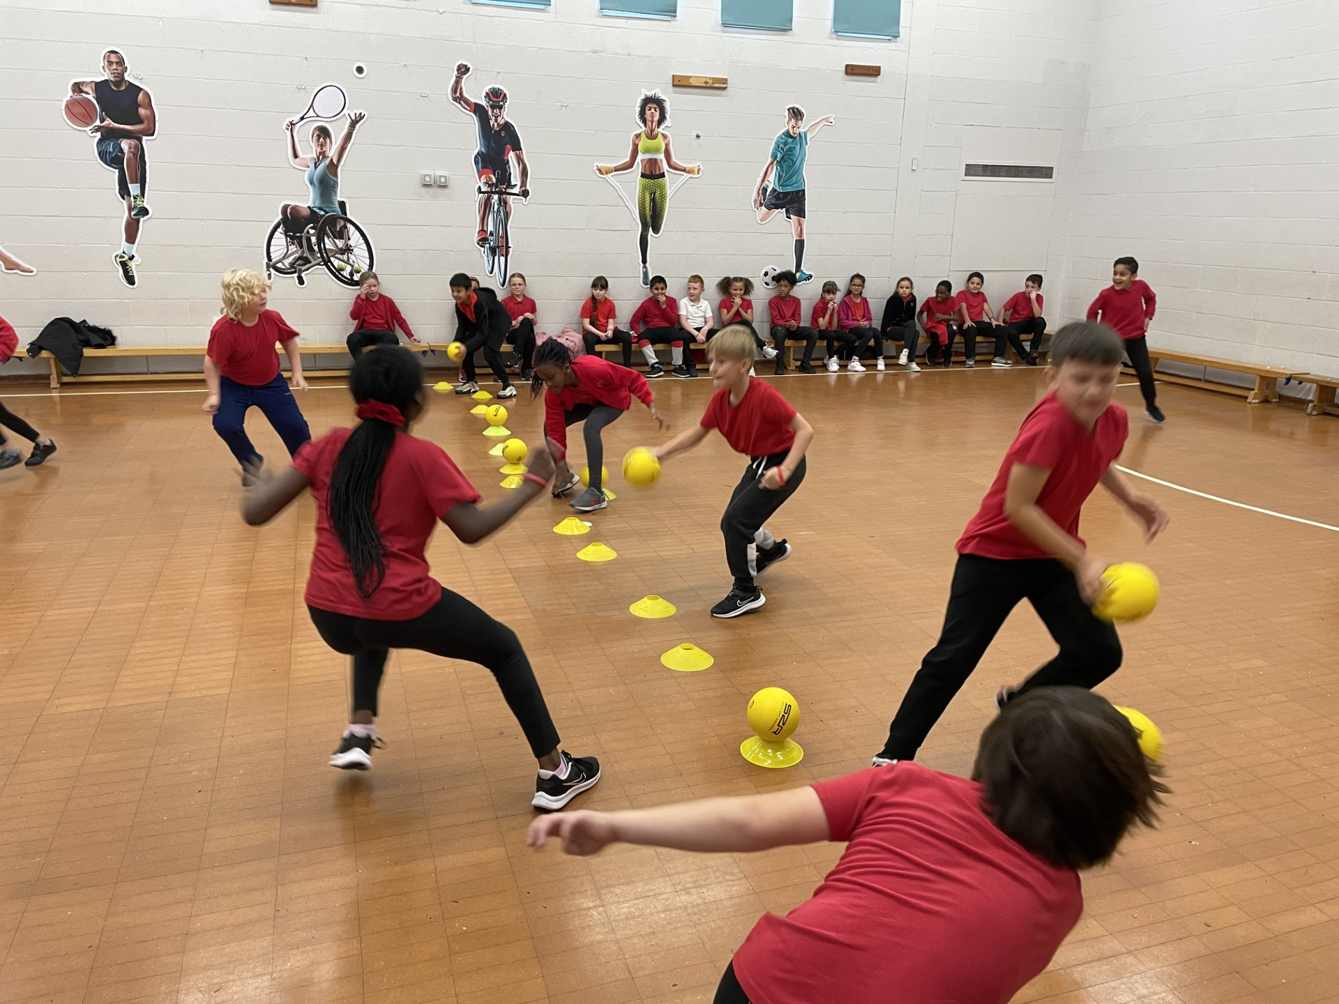
[[[592, 534], [553, 534], [568, 510], [548, 499], [477, 549], [437, 534], [435, 574], [520, 633], [565, 746], [601, 758], [581, 807], [868, 766], [937, 633], [953, 541], [1040, 384], [984, 368], [778, 386], [818, 436], [774, 523], [794, 558], [757, 614], [707, 616], [730, 584], [716, 521], [740, 458], [712, 439], [632, 493], [617, 469], [653, 438], [640, 408], [607, 435], [619, 498]], [[710, 383], [655, 390], [682, 427]], [[1169, 420], [1154, 427], [1137, 388], [1118, 391], [1127, 467], [1339, 522], [1339, 423], [1161, 394]], [[8, 383], [4, 396], [60, 452], [0, 474], [0, 1000], [710, 1001], [757, 917], [803, 900], [837, 858], [537, 857], [522, 846], [534, 762], [491, 677], [414, 652], [392, 656], [375, 770], [329, 768], [347, 665], [301, 604], [311, 501], [244, 526], [198, 388], [54, 398]], [[301, 406], [317, 434], [351, 418], [335, 386]], [[495, 497], [495, 440], [467, 407], [434, 396], [418, 431]], [[536, 446], [538, 404], [509, 407]], [[1103, 692], [1162, 727], [1176, 794], [1162, 829], [1086, 877], [1083, 921], [1018, 1000], [1339, 1000], [1339, 533], [1141, 487], [1173, 513], [1152, 549], [1105, 497], [1083, 525], [1101, 553], [1162, 577], [1162, 605], [1122, 632], [1126, 664]], [[619, 558], [578, 561], [593, 541]], [[632, 617], [648, 593], [678, 616]], [[663, 668], [682, 641], [715, 665]], [[967, 772], [996, 687], [1051, 651], [1020, 608], [924, 762]], [[767, 684], [802, 709], [806, 755], [787, 771], [738, 754], [747, 697]]]

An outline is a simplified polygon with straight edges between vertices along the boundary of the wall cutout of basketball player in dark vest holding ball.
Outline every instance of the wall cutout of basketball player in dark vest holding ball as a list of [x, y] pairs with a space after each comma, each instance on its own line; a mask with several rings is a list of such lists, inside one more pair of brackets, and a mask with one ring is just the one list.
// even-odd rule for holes
[[122, 228], [125, 242], [112, 261], [121, 281], [134, 286], [135, 266], [139, 264], [135, 256], [139, 225], [150, 216], [145, 202], [149, 187], [145, 141], [158, 134], [158, 112], [149, 90], [126, 79], [126, 58], [119, 50], [110, 48], [102, 54], [102, 72], [104, 76], [100, 80], [70, 82], [66, 120], [94, 137], [102, 166], [116, 173], [116, 194], [126, 203], [126, 221]]

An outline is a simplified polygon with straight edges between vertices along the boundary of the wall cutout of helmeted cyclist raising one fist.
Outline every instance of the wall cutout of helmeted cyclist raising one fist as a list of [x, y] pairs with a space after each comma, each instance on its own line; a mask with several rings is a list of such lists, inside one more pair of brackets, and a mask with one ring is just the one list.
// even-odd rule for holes
[[[474, 116], [479, 134], [479, 149], [474, 154], [474, 174], [478, 178], [479, 229], [474, 242], [483, 256], [483, 268], [498, 284], [506, 285], [507, 265], [511, 260], [511, 197], [522, 202], [530, 198], [530, 165], [521, 147], [521, 134], [506, 116], [507, 94], [493, 84], [485, 88], [479, 100], [465, 94], [465, 78], [473, 67], [455, 64], [451, 80], [451, 100], [466, 115]], [[516, 185], [511, 178], [516, 161]]]

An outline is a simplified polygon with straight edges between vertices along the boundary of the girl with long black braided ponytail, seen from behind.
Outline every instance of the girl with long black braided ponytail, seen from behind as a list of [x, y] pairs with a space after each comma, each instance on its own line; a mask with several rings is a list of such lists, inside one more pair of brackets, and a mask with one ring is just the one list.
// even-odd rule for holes
[[[408, 351], [378, 345], [349, 373], [356, 428], [335, 428], [307, 443], [293, 466], [261, 481], [242, 502], [260, 526], [304, 490], [316, 498], [316, 546], [307, 609], [336, 652], [353, 657], [352, 716], [332, 767], [368, 770], [376, 696], [392, 648], [416, 648], [487, 667], [540, 762], [532, 805], [562, 809], [600, 780], [595, 758], [558, 746], [544, 693], [516, 635], [428, 576], [423, 550], [441, 519], [465, 543], [491, 535], [549, 486], [548, 455], [534, 458], [520, 489], [489, 506], [450, 456], [408, 428], [423, 414], [423, 368]], [[252, 475], [260, 478], [260, 467]]]

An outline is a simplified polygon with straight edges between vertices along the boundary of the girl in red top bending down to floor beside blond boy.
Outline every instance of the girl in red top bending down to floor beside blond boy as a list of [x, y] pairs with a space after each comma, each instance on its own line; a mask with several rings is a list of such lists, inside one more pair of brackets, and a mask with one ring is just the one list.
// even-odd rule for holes
[[553, 497], [566, 495], [581, 483], [568, 467], [568, 426], [585, 422], [586, 467], [590, 485], [570, 505], [578, 513], [593, 513], [609, 505], [604, 494], [604, 440], [600, 434], [632, 407], [632, 395], [647, 406], [656, 428], [670, 428], [656, 408], [647, 378], [636, 369], [605, 363], [599, 356], [572, 357], [572, 349], [549, 339], [534, 349], [534, 380], [530, 394], [544, 395], [544, 434], [557, 478]]

